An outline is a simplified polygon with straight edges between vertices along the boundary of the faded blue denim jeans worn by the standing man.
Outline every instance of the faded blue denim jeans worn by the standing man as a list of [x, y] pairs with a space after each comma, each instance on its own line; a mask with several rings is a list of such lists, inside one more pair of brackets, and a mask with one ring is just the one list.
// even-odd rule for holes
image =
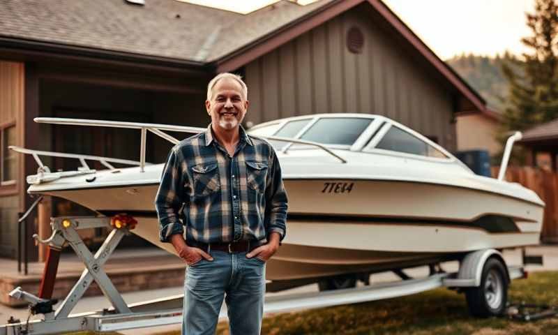
[[223, 297], [231, 335], [257, 335], [262, 327], [266, 291], [265, 262], [246, 253], [211, 251], [186, 268], [182, 334], [215, 334]]

